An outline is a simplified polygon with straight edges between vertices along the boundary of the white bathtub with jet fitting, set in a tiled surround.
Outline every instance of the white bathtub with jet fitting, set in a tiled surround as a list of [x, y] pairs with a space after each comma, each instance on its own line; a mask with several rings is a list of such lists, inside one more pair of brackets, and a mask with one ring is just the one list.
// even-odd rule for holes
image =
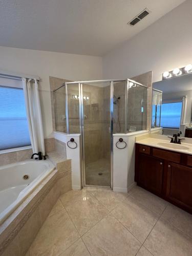
[[49, 160], [26, 160], [0, 167], [0, 224], [54, 168]]

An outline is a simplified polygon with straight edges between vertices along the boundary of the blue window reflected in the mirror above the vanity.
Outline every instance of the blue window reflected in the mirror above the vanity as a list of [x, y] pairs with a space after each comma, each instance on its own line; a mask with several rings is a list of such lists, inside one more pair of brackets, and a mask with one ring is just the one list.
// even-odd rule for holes
[[182, 102], [163, 103], [161, 106], [161, 127], [180, 127]]

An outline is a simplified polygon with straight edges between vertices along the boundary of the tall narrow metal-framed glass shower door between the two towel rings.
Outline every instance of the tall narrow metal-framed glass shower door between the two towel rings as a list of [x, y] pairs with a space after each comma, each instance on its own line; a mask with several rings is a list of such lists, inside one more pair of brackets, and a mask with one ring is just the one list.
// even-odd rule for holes
[[111, 186], [111, 83], [81, 84], [84, 186]]

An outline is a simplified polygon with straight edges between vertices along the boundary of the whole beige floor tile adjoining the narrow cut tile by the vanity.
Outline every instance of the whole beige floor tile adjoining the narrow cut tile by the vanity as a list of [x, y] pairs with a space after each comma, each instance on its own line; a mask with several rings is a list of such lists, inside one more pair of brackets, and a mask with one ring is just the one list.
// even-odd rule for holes
[[112, 212], [141, 243], [144, 242], [159, 216], [132, 197], [126, 198]]

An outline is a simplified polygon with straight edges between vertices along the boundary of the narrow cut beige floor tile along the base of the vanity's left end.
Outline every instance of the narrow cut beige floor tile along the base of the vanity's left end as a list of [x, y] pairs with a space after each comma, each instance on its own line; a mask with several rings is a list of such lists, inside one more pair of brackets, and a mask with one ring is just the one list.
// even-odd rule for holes
[[156, 212], [159, 215], [162, 214], [163, 210], [168, 204], [165, 200], [155, 196], [154, 194], [139, 186], [135, 186], [132, 189], [132, 193], [130, 196], [135, 198], [141, 204], [143, 204], [144, 206], [146, 206], [147, 208]]

